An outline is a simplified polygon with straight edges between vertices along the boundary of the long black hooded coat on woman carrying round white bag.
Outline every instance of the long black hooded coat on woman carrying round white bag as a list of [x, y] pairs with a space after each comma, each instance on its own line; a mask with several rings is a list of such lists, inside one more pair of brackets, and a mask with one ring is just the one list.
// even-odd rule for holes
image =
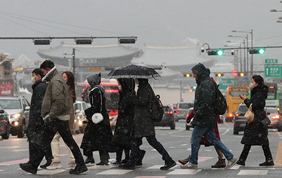
[[[94, 79], [94, 78], [91, 78]], [[91, 80], [87, 78], [88, 82]], [[100, 80], [91, 83], [92, 88], [89, 92], [91, 107], [85, 109], [85, 115], [87, 117], [87, 126], [85, 128], [85, 133], [83, 135], [83, 142], [80, 148], [90, 150], [90, 151], [108, 151], [114, 152], [113, 144], [111, 143], [111, 138], [113, 134], [111, 133], [111, 126], [109, 124], [109, 115], [106, 109], [106, 98], [105, 90], [100, 87]], [[96, 88], [96, 89], [95, 89]], [[101, 98], [102, 95], [102, 98]], [[101, 99], [102, 99], [102, 112], [101, 112]], [[101, 113], [103, 116], [102, 122], [94, 124], [91, 117], [94, 113]]]

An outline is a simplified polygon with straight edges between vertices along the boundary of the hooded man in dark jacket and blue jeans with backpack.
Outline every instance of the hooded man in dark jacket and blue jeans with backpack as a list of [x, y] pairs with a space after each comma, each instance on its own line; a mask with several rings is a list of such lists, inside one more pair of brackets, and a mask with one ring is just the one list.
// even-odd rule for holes
[[232, 168], [237, 162], [237, 158], [228, 150], [228, 148], [215, 136], [215, 126], [217, 126], [217, 115], [215, 113], [215, 83], [211, 80], [210, 70], [206, 69], [201, 63], [192, 68], [193, 77], [197, 82], [195, 90], [194, 102], [194, 129], [191, 137], [192, 153], [189, 157], [189, 162], [181, 168], [197, 168], [199, 142], [204, 134], [210, 144], [221, 151], [228, 164], [226, 169]]

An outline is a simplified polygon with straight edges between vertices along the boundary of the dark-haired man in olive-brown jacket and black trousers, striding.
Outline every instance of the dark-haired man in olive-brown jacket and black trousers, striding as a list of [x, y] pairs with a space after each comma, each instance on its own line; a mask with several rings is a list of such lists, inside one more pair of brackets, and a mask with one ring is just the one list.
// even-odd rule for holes
[[[43, 146], [49, 146], [58, 131], [76, 159], [76, 168], [70, 170], [69, 174], [83, 173], [87, 171], [87, 167], [85, 166], [83, 155], [81, 155], [80, 149], [69, 130], [68, 120], [72, 106], [69, 102], [67, 83], [63, 77], [58, 74], [51, 60], [45, 60], [40, 65], [40, 68], [41, 71], [43, 71], [43, 75], [45, 75], [42, 81], [46, 80], [49, 82], [41, 107], [41, 117], [43, 117], [43, 120], [47, 121], [48, 131], [48, 134], [43, 135]], [[20, 164], [19, 166], [28, 173], [36, 174], [43, 157], [44, 153], [39, 151], [36, 154], [34, 162], [30, 162], [30, 164]]]

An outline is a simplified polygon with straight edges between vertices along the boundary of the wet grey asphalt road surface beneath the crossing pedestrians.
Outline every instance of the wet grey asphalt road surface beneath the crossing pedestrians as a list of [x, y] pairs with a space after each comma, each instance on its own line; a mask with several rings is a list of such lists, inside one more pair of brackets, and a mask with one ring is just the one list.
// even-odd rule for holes
[[[164, 145], [171, 157], [177, 162], [178, 159], [184, 159], [191, 153], [191, 131], [185, 130], [185, 122], [176, 123], [176, 129], [170, 130], [169, 127], [156, 127], [156, 137]], [[232, 123], [219, 124], [219, 133], [221, 140], [230, 149], [230, 151], [239, 157], [243, 145], [240, 144], [243, 133], [233, 135]], [[74, 135], [74, 139], [80, 146], [83, 134]], [[79, 175], [79, 177], [281, 177], [282, 166], [282, 135], [276, 130], [269, 130], [270, 150], [275, 161], [275, 166], [270, 168], [260, 167], [264, 162], [264, 155], [261, 146], [253, 146], [246, 161], [246, 166], [235, 165], [230, 170], [210, 168], [217, 162], [217, 154], [213, 146], [202, 146], [199, 150], [198, 169], [188, 170], [180, 168], [180, 164], [171, 168], [171, 170], [160, 170], [164, 165], [162, 157], [155, 151], [145, 139], [143, 139], [142, 149], [147, 151], [143, 166], [135, 170], [122, 170], [117, 166], [95, 166], [90, 164], [89, 170]], [[280, 147], [279, 147], [280, 144]], [[61, 162], [67, 166], [69, 156], [63, 140], [60, 143]], [[28, 142], [26, 137], [17, 138], [11, 136], [9, 140], [0, 140], [0, 178], [6, 177], [30, 177], [31, 174], [25, 173], [19, 168], [19, 163], [28, 162]], [[278, 154], [277, 154], [278, 153]], [[115, 159], [115, 153], [110, 153], [110, 160]], [[98, 153], [94, 152], [94, 159], [98, 163]], [[45, 164], [45, 160], [43, 160]], [[42, 170], [39, 169], [37, 175], [32, 177], [77, 177], [78, 175], [69, 175], [67, 170]]]

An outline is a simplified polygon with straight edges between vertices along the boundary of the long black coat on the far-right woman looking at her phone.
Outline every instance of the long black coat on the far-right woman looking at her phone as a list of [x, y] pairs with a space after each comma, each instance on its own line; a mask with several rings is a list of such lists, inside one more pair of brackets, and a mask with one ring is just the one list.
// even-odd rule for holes
[[254, 121], [250, 124], [246, 122], [246, 128], [243, 133], [241, 144], [249, 145], [269, 145], [268, 142], [268, 127], [261, 123], [261, 120], [266, 118], [266, 113], [263, 111], [265, 107], [265, 99], [268, 96], [268, 87], [258, 85], [250, 91], [250, 100], [244, 100], [247, 107], [252, 103], [254, 111]]

